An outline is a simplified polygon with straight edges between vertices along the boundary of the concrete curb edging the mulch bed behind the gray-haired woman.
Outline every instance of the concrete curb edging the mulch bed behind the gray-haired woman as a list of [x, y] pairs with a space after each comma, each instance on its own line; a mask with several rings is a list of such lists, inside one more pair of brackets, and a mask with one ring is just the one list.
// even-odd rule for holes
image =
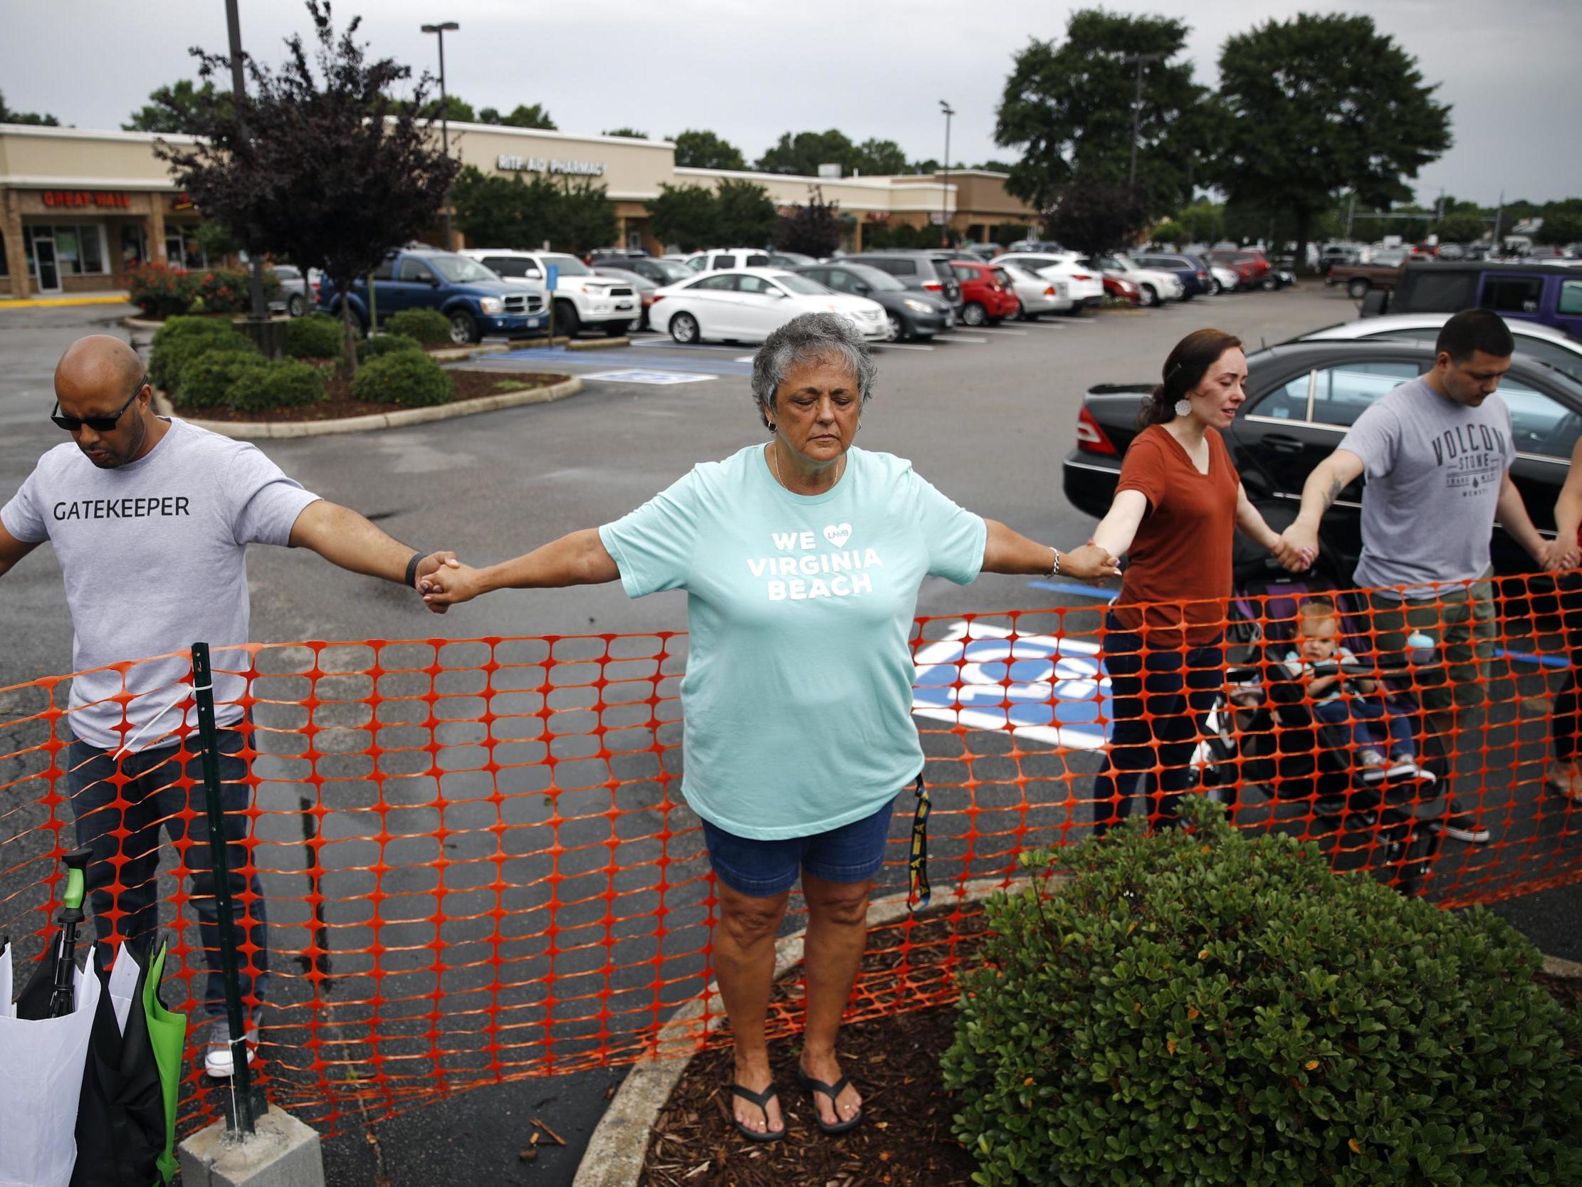
[[[1063, 877], [1050, 878], [1065, 882]], [[949, 902], [976, 902], [987, 899], [998, 891], [1017, 889], [1030, 885], [1031, 878], [1019, 875], [1009, 882], [1005, 878], [976, 878], [963, 888], [948, 894], [937, 894], [933, 902], [944, 905]], [[894, 894], [886, 899], [875, 899], [869, 905], [869, 929], [884, 927], [906, 918], [906, 896]], [[805, 932], [794, 932], [775, 942], [775, 980], [785, 977], [802, 962], [802, 937]], [[577, 1174], [571, 1187], [636, 1187], [642, 1178], [642, 1163], [649, 1155], [649, 1133], [671, 1098], [671, 1092], [680, 1081], [682, 1073], [698, 1054], [696, 1045], [699, 1032], [709, 1035], [725, 1022], [723, 1016], [704, 1018], [706, 1003], [718, 999], [720, 988], [710, 981], [698, 997], [683, 1003], [671, 1014], [660, 1033], [655, 1037], [657, 1054], [633, 1064], [631, 1071], [620, 1083], [609, 1108], [600, 1117], [593, 1135], [589, 1138], [582, 1162], [577, 1163]], [[676, 1054], [666, 1054], [674, 1051]], [[639, 1140], [641, 1138], [641, 1140]]]

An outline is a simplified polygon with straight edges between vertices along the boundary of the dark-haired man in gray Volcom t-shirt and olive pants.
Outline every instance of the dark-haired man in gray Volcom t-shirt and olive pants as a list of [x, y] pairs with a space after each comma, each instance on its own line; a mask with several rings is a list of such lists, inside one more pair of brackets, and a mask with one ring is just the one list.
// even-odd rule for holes
[[[1422, 633], [1440, 647], [1449, 684], [1422, 690], [1429, 731], [1455, 764], [1462, 742], [1481, 749], [1495, 620], [1489, 543], [1495, 518], [1544, 568], [1558, 552], [1538, 535], [1511, 481], [1511, 411], [1495, 396], [1516, 342], [1497, 313], [1470, 309], [1440, 329], [1433, 369], [1367, 408], [1308, 475], [1302, 511], [1285, 530], [1291, 552], [1318, 556], [1318, 525], [1356, 478], [1362, 487], [1357, 586], [1368, 589], [1380, 652], [1406, 650]], [[1427, 673], [1419, 674], [1425, 682]], [[1451, 801], [1448, 836], [1487, 842], [1476, 810]]]

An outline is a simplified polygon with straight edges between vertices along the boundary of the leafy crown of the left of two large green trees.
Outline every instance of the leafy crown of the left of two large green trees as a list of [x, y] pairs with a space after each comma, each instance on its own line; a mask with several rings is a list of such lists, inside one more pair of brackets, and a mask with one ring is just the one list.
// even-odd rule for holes
[[1212, 117], [1191, 62], [1175, 60], [1188, 32], [1169, 17], [1087, 8], [1071, 14], [1063, 43], [1030, 41], [1014, 59], [995, 120], [995, 144], [1022, 150], [1006, 190], [1043, 209], [1073, 177], [1126, 184], [1137, 66], [1123, 59], [1160, 54], [1142, 66], [1137, 190], [1152, 214], [1191, 201], [1204, 180]]

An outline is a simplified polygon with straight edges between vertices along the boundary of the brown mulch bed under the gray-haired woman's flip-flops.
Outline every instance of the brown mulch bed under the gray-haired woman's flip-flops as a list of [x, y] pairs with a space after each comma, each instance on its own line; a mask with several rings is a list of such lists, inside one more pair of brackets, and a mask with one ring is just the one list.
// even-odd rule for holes
[[[981, 918], [981, 916], [979, 916]], [[967, 923], [967, 921], [963, 921]], [[913, 943], [952, 924], [938, 920], [913, 929]], [[895, 962], [899, 929], [869, 937], [864, 969]], [[957, 954], [976, 937], [963, 935]], [[914, 954], [916, 962], [916, 954]], [[800, 1005], [800, 970], [775, 984], [774, 999]], [[973, 1155], [951, 1135], [954, 1097], [940, 1084], [940, 1056], [956, 1032], [956, 1007], [940, 1005], [843, 1026], [840, 1062], [862, 1092], [864, 1122], [826, 1136], [807, 1092], [797, 1087], [800, 1045], [769, 1046], [786, 1124], [782, 1141], [756, 1144], [731, 1125], [731, 1048], [696, 1056], [682, 1073], [653, 1125], [639, 1187], [973, 1187]]]

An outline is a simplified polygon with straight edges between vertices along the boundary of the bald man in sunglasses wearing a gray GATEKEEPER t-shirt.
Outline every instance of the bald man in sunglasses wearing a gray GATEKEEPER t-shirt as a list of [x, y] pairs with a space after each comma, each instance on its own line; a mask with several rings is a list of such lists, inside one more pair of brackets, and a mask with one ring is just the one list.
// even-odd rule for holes
[[[185, 772], [177, 761], [177, 744], [196, 726], [196, 714], [184, 730], [190, 673], [185, 658], [169, 654], [195, 641], [215, 647], [226, 837], [240, 845], [248, 807], [240, 728], [247, 681], [233, 673], [247, 668], [245, 654], [234, 649], [247, 643], [248, 630], [247, 546], [308, 548], [340, 568], [408, 587], [454, 556], [426, 556], [392, 540], [356, 511], [304, 491], [247, 442], [157, 416], [142, 361], [108, 334], [78, 339], [62, 356], [51, 419], [71, 442], [40, 457], [0, 508], [0, 576], [46, 540], [55, 546], [71, 611], [71, 662], [82, 673], [71, 682], [66, 717], [76, 739], [65, 761], [66, 790], [78, 844], [93, 851], [87, 885], [100, 942], [152, 937], [160, 829], [191, 842], [185, 863], [210, 969], [206, 1065], [210, 1075], [228, 1076], [202, 772], [196, 758]], [[150, 655], [168, 658], [138, 663]], [[196, 739], [188, 741], [188, 753], [196, 749]], [[190, 788], [180, 785], [184, 774]], [[190, 825], [182, 818], [188, 809]], [[231, 869], [244, 858], [237, 848]], [[248, 939], [256, 953], [244, 962], [242, 992], [261, 1003], [269, 988], [264, 901], [256, 875], [248, 885], [233, 872], [231, 894], [244, 889], [252, 891]], [[256, 1041], [255, 1024], [256, 1011], [248, 1027]]]

